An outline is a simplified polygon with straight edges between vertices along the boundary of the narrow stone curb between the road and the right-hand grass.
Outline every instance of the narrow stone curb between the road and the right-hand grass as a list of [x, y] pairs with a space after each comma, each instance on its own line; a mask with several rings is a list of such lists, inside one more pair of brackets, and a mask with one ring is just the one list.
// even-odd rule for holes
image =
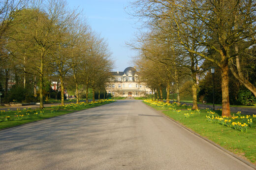
[[[143, 103], [143, 102], [142, 102], [142, 103]], [[145, 104], [145, 103], [143, 103], [143, 104]], [[172, 122], [174, 122], [174, 123], [177, 124], [178, 126], [182, 127], [183, 129], [189, 131], [190, 133], [196, 135], [197, 137], [203, 139], [204, 141], [213, 144], [214, 146], [216, 146], [216, 147], [218, 147], [219, 149], [223, 150], [223, 151], [226, 152], [227, 154], [233, 156], [234, 158], [238, 159], [239, 161], [243, 162], [244, 164], [246, 164], [246, 165], [248, 165], [249, 167], [251, 167], [251, 168], [253, 168], [253, 169], [256, 170], [256, 166], [255, 166], [254, 164], [252, 164], [251, 162], [249, 162], [249, 161], [247, 161], [247, 160], [245, 160], [245, 159], [240, 158], [239, 156], [237, 156], [236, 154], [230, 152], [229, 150], [225, 149], [224, 147], [220, 146], [219, 144], [217, 144], [217, 143], [215, 143], [215, 142], [213, 142], [213, 141], [211, 141], [211, 140], [208, 140], [208, 139], [205, 138], [205, 137], [202, 137], [202, 136], [199, 135], [198, 133], [192, 131], [190, 128], [188, 128], [188, 127], [184, 126], [183, 124], [181, 124], [180, 122], [178, 122], [178, 121], [174, 120], [173, 118], [167, 116], [166, 114], [162, 113], [162, 111], [157, 111], [157, 110], [155, 110], [154, 108], [150, 107], [149, 105], [147, 105], [147, 104], [145, 104], [145, 105], [146, 105], [147, 107], [149, 107], [150, 109], [156, 111], [157, 113], [161, 114], [163, 117], [167, 118], [168, 120], [171, 120]]]

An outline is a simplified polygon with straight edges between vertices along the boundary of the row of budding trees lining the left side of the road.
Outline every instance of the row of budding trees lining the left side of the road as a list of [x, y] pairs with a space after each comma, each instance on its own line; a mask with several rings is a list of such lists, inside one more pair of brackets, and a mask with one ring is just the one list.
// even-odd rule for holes
[[5, 16], [0, 21], [0, 71], [1, 80], [5, 80], [5, 99], [11, 77], [16, 85], [33, 91], [34, 97], [39, 86], [40, 108], [45, 83], [53, 77], [60, 82], [62, 104], [66, 86], [75, 89], [77, 103], [80, 85], [87, 89], [87, 101], [89, 87], [93, 92], [102, 89], [112, 68], [111, 53], [105, 40], [92, 31], [77, 9], [68, 9], [64, 0], [0, 3], [0, 15]]

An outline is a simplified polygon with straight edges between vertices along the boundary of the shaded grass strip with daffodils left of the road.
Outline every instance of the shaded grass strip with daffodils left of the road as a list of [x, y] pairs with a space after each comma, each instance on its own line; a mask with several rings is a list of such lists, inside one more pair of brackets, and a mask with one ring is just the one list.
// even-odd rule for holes
[[94, 108], [112, 102], [114, 102], [114, 100], [100, 100], [91, 103], [81, 102], [79, 104], [71, 103], [64, 106], [51, 106], [44, 108], [43, 110], [25, 108], [23, 110], [17, 109], [17, 111], [0, 111], [0, 129]]

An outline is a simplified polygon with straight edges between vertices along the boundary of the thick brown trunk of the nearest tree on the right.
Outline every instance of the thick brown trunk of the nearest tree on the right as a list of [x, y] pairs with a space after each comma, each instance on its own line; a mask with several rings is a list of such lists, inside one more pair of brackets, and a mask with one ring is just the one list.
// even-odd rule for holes
[[227, 62], [221, 67], [222, 74], [222, 116], [231, 116], [228, 94], [228, 65]]

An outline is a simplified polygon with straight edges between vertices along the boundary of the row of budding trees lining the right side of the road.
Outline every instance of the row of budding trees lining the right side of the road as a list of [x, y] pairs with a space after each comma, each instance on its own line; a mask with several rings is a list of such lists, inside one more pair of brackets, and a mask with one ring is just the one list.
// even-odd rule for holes
[[137, 62], [145, 66], [145, 80], [167, 89], [176, 82], [179, 96], [182, 80], [190, 76], [197, 109], [198, 77], [210, 66], [218, 67], [225, 116], [230, 116], [229, 70], [256, 96], [256, 81], [250, 79], [256, 68], [256, 1], [135, 0], [130, 9], [149, 30], [130, 44], [139, 51]]

